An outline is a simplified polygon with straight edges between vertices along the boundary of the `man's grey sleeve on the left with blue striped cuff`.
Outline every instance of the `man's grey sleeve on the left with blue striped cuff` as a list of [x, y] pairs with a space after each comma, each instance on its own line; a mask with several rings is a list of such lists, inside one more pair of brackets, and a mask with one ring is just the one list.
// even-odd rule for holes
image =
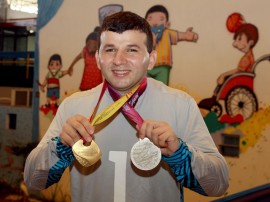
[[30, 189], [42, 190], [58, 182], [74, 160], [71, 147], [60, 142], [62, 117], [63, 114], [56, 114], [46, 134], [26, 159], [24, 181]]

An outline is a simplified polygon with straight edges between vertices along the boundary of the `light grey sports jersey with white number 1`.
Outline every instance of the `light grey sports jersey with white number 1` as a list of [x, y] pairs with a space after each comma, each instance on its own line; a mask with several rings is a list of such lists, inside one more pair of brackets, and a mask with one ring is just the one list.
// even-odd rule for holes
[[[45, 188], [49, 169], [58, 161], [51, 138], [59, 136], [67, 118], [76, 114], [90, 117], [101, 88], [99, 85], [92, 90], [75, 93], [61, 103], [45, 136], [27, 158], [25, 181], [28, 186]], [[98, 112], [112, 102], [106, 90]], [[220, 194], [227, 188], [226, 163], [191, 96], [148, 78], [147, 88], [135, 109], [144, 120], [167, 122], [188, 145], [192, 153], [192, 171], [208, 195]], [[180, 200], [179, 183], [164, 161], [151, 171], [141, 171], [132, 165], [130, 150], [138, 138], [134, 124], [121, 112], [96, 126], [94, 136], [102, 152], [101, 160], [88, 168], [76, 160], [70, 166], [73, 202]]]

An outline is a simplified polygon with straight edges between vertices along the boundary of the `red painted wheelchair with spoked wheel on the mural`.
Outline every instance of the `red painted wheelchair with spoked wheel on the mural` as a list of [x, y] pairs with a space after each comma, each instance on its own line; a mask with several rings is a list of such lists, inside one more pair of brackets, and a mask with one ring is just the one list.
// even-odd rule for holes
[[263, 55], [255, 61], [252, 73], [241, 72], [229, 76], [216, 92], [216, 96], [201, 100], [198, 107], [214, 112], [217, 117], [220, 117], [223, 112], [220, 101], [224, 100], [228, 115], [234, 117], [240, 114], [244, 119], [250, 118], [259, 108], [254, 93], [255, 68], [265, 60], [270, 61], [270, 54]]

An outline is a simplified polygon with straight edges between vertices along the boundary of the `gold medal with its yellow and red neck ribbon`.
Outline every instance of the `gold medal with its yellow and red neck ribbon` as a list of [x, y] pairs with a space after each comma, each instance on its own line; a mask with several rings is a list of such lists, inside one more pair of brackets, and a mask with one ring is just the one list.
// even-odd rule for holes
[[[103, 109], [95, 118], [93, 118], [97, 112], [98, 106], [101, 102], [101, 99], [108, 85], [109, 84], [106, 81], [104, 81], [98, 103], [96, 104], [96, 107], [90, 117], [90, 123], [93, 126], [96, 126], [104, 122], [105, 120], [110, 118], [113, 114], [115, 114], [140, 87], [140, 84], [137, 84], [130, 92], [120, 97], [114, 103]], [[81, 138], [72, 146], [72, 151], [75, 158], [82, 166], [89, 167], [95, 164], [100, 159], [101, 152], [94, 140], [91, 141], [90, 145], [84, 145], [85, 142], [86, 141], [83, 138]]]

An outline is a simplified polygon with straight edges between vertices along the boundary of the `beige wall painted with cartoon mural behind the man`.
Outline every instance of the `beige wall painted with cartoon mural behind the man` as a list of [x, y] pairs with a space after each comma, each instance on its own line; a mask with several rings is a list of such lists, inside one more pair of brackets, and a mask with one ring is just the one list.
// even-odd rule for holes
[[[230, 168], [230, 187], [226, 195], [269, 183], [270, 162], [266, 159], [270, 152], [270, 90], [266, 86], [269, 86], [270, 75], [267, 20], [270, 2], [119, 0], [114, 3], [143, 17], [153, 5], [162, 4], [169, 12], [166, 28], [192, 34], [190, 39], [180, 40], [171, 47], [168, 85], [188, 92], [198, 102], [208, 129]], [[82, 47], [86, 46], [89, 33], [100, 23], [99, 9], [108, 4], [111, 2], [107, 0], [95, 4], [64, 1], [55, 17], [40, 30], [39, 80], [46, 77], [49, 58], [55, 53], [61, 55], [62, 70], [70, 75], [59, 79], [59, 103], [80, 89], [85, 66], [81, 60], [85, 59]], [[240, 27], [247, 24], [252, 25], [251, 28], [240, 32]], [[254, 30], [258, 32], [257, 39]], [[178, 40], [175, 39], [175, 44]], [[250, 63], [247, 65], [247, 62]], [[219, 90], [215, 92], [218, 85]], [[40, 104], [42, 137], [57, 108], [47, 111], [46, 107], [42, 108], [47, 104], [46, 93], [42, 92]], [[185, 198], [187, 201], [210, 200], [188, 190]]]

